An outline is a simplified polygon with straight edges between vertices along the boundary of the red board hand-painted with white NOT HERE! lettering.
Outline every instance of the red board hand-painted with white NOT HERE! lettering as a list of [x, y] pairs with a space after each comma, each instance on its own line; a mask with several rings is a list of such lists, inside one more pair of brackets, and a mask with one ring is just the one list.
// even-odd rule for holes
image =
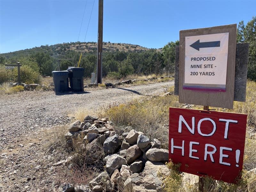
[[169, 159], [180, 171], [235, 183], [241, 178], [246, 114], [170, 108]]

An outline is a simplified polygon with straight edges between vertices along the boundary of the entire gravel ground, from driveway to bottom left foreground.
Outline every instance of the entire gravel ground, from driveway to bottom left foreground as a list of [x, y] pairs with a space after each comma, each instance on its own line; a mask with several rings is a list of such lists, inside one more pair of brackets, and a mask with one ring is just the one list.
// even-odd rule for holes
[[[53, 91], [0, 95], [0, 191], [39, 191], [38, 183], [56, 185], [52, 172], [45, 175], [36, 167], [45, 152], [42, 146], [47, 144], [45, 128], [69, 123], [72, 118], [68, 114], [77, 110], [93, 113], [110, 103], [160, 94], [172, 85], [173, 81], [63, 95]], [[42, 175], [45, 179], [39, 180]]]

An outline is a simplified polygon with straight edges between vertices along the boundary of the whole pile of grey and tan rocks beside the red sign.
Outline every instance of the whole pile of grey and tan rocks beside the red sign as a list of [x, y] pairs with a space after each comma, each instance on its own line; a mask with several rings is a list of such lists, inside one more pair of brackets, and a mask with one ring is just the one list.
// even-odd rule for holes
[[[85, 146], [86, 157], [93, 162], [103, 153], [106, 162], [106, 171], [92, 180], [86, 190], [76, 190], [72, 186], [68, 191], [114, 192], [129, 191], [131, 188], [134, 192], [162, 191], [157, 172], [169, 174], [164, 165], [169, 154], [168, 150], [161, 148], [159, 140], [150, 141], [144, 133], [133, 129], [122, 136], [117, 135], [108, 118], [98, 119], [95, 116], [86, 116], [82, 123], [75, 121], [68, 130], [65, 136], [68, 148], [72, 148], [74, 138], [81, 135], [88, 142]], [[61, 186], [59, 191], [67, 190]]]

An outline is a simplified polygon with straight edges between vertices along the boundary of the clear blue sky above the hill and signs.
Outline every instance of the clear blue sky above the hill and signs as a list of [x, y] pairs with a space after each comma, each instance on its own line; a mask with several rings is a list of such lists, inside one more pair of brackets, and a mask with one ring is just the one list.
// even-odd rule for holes
[[[83, 42], [94, 0], [87, 0]], [[86, 0], [0, 0], [0, 52], [76, 42]], [[247, 23], [255, 0], [104, 0], [103, 41], [160, 48], [179, 30]], [[97, 42], [98, 0], [85, 41]]]

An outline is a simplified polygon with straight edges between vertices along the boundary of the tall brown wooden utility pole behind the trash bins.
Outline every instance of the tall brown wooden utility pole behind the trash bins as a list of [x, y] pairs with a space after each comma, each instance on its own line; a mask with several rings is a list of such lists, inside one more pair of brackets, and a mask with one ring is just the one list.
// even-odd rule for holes
[[99, 0], [97, 83], [102, 83], [103, 0]]

